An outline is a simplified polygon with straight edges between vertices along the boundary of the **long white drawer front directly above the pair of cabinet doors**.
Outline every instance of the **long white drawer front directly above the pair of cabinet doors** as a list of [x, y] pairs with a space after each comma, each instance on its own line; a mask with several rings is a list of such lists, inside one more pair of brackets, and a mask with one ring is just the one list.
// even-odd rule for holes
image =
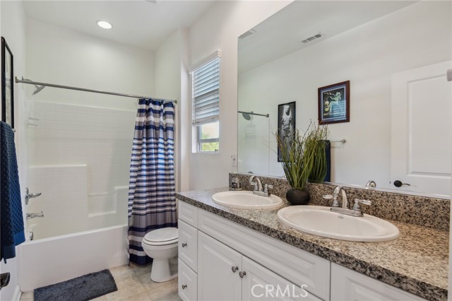
[[198, 229], [295, 285], [307, 285], [309, 293], [329, 300], [330, 261], [203, 210], [199, 211]]

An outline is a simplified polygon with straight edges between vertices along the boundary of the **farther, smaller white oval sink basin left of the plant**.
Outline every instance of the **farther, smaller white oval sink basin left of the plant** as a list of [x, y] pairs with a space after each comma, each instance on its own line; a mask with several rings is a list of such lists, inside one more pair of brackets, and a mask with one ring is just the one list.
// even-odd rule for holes
[[283, 203], [279, 196], [258, 196], [252, 191], [224, 191], [212, 196], [218, 205], [244, 209], [273, 209]]

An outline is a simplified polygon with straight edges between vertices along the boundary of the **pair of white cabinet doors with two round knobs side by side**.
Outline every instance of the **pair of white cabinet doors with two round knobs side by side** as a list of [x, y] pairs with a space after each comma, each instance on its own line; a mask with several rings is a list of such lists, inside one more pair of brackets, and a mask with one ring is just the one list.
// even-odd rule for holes
[[321, 300], [202, 232], [198, 262], [198, 300]]

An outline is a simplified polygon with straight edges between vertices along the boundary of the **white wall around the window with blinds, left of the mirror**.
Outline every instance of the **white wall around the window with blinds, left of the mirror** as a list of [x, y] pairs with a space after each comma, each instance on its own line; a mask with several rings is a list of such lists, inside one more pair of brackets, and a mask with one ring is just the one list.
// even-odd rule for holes
[[[220, 152], [191, 153], [190, 189], [225, 187], [237, 153], [237, 37], [291, 1], [219, 1], [190, 28], [191, 64], [221, 49]], [[190, 111], [189, 111], [190, 112]], [[191, 120], [191, 118], [189, 119]], [[187, 124], [189, 126], [189, 124]]]

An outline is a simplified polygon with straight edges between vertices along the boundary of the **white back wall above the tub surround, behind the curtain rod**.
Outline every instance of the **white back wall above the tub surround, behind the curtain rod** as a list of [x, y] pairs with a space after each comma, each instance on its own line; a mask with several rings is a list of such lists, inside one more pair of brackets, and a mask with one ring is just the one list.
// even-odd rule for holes
[[[37, 20], [27, 26], [25, 78], [142, 96], [153, 96], [153, 52], [102, 40]], [[32, 88], [29, 89], [29, 94]], [[76, 103], [135, 110], [136, 100], [112, 95], [45, 88], [34, 101]]]

